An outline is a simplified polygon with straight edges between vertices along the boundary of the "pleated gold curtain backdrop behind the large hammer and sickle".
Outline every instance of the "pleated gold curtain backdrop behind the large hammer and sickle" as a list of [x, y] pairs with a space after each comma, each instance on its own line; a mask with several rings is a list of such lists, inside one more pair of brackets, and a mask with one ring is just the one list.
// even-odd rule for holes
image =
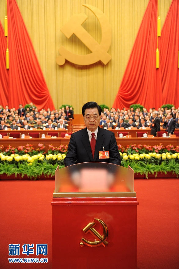
[[[159, 1], [161, 27], [171, 1]], [[6, 0], [0, 0], [0, 20], [3, 27], [5, 3]], [[75, 114], [81, 113], [82, 105], [87, 101], [97, 101], [98, 104], [111, 107], [148, 0], [17, 0], [17, 4], [55, 107], [62, 104], [73, 105]], [[82, 4], [100, 9], [111, 24], [112, 42], [108, 53], [112, 59], [107, 65], [98, 62], [89, 66], [79, 66], [66, 61], [64, 65], [59, 66], [56, 64], [56, 57], [61, 45], [73, 53], [90, 53], [78, 37], [72, 35], [67, 39], [60, 31], [73, 14], [86, 13], [88, 19], [83, 27], [100, 43], [100, 24], [95, 15]]]

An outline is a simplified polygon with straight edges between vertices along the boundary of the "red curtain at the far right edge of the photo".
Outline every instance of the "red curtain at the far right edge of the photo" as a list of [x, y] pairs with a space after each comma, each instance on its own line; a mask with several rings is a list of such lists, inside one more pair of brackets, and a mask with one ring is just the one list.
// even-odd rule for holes
[[163, 104], [179, 107], [179, 0], [173, 0], [161, 31]]

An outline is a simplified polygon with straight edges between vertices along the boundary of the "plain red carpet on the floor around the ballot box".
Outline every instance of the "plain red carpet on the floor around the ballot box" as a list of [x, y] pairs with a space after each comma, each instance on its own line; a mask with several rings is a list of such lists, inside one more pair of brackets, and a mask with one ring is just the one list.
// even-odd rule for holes
[[[52, 268], [51, 201], [54, 185], [53, 180], [0, 181], [1, 269]], [[134, 186], [139, 201], [137, 269], [178, 269], [179, 180], [139, 179], [135, 180]], [[39, 259], [47, 257], [48, 263], [9, 263], [8, 258], [13, 256], [8, 256], [8, 245], [20, 244], [19, 258], [27, 258], [22, 254], [24, 243], [34, 246], [48, 244], [48, 255], [39, 255]], [[37, 257], [36, 252], [29, 257]]]

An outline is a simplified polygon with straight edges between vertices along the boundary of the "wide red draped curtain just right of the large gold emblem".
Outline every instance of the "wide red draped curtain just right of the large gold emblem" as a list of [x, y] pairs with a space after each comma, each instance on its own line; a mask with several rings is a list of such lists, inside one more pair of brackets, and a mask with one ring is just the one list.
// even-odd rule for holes
[[161, 71], [156, 69], [157, 0], [150, 0], [141, 22], [113, 107], [162, 105]]

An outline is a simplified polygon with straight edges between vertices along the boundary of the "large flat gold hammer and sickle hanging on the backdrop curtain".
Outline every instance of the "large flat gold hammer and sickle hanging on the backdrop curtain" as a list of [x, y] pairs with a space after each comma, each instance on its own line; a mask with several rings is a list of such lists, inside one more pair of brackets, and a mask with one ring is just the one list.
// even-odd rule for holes
[[65, 63], [65, 59], [74, 64], [88, 65], [94, 64], [97, 61], [102, 61], [107, 64], [111, 60], [111, 56], [108, 54], [109, 47], [111, 46], [111, 27], [108, 23], [104, 13], [96, 7], [90, 5], [83, 5], [90, 9], [97, 17], [101, 26], [101, 42], [100, 44], [93, 39], [93, 37], [82, 27], [83, 22], [88, 18], [85, 13], [79, 13], [73, 15], [68, 23], [66, 23], [60, 31], [67, 37], [75, 34], [92, 53], [86, 55], [79, 55], [71, 53], [66, 50], [63, 46], [60, 47], [60, 56], [56, 58], [56, 62], [59, 65]]

